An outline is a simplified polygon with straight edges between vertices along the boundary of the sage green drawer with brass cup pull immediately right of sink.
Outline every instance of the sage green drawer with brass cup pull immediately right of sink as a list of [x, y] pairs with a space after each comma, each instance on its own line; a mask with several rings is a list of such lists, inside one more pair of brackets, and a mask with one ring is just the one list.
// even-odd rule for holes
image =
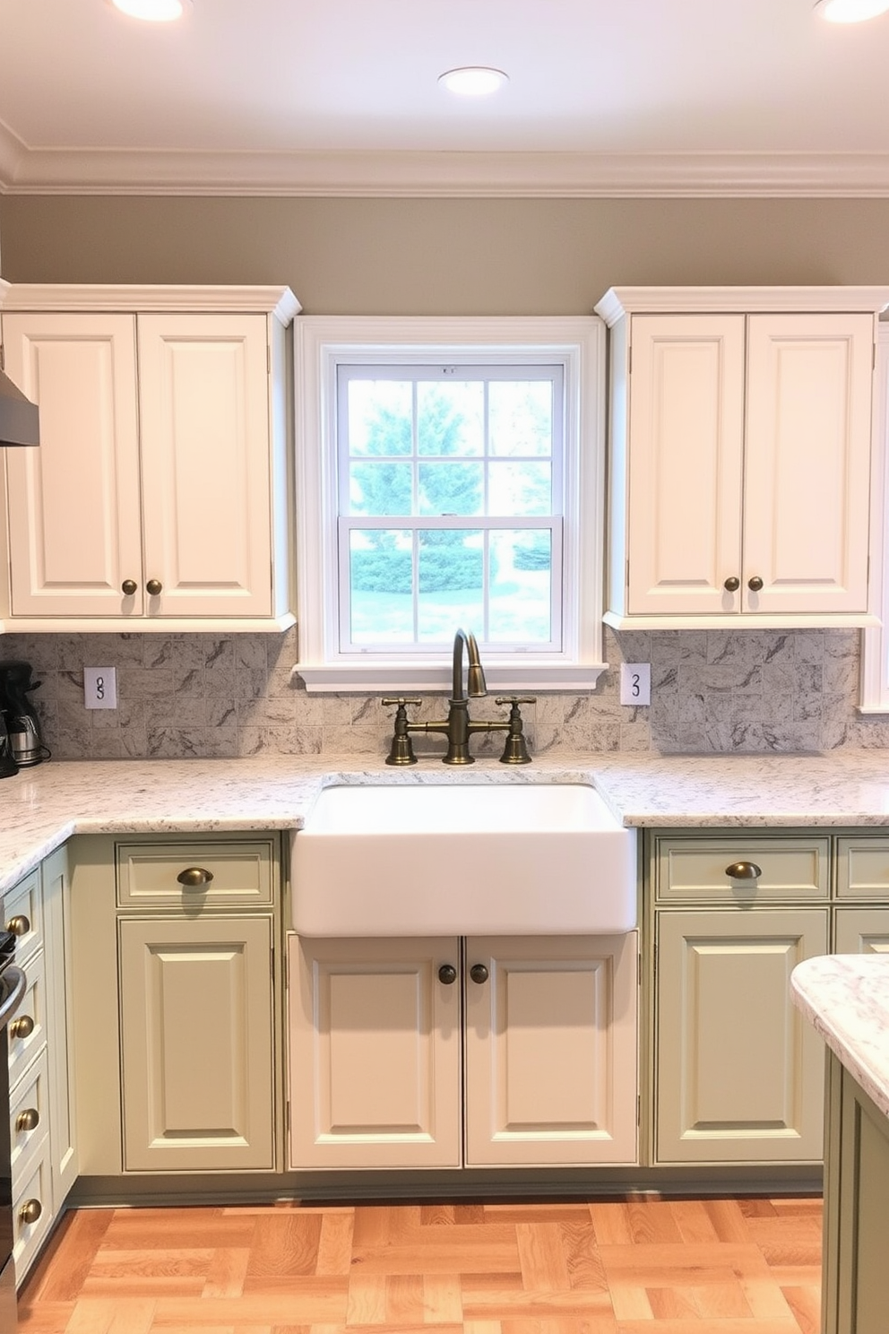
[[[704, 900], [769, 903], [777, 899], [826, 899], [830, 888], [830, 839], [658, 838], [658, 902]], [[736, 874], [729, 871], [736, 868]], [[744, 870], [752, 874], [745, 878]], [[758, 874], [753, 874], [757, 872]]]

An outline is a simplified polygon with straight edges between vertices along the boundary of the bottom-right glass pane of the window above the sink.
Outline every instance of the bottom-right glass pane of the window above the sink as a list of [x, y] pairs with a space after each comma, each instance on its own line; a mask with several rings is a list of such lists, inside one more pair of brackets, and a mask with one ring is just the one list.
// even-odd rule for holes
[[552, 636], [552, 534], [521, 528], [490, 534], [492, 643], [549, 643]]

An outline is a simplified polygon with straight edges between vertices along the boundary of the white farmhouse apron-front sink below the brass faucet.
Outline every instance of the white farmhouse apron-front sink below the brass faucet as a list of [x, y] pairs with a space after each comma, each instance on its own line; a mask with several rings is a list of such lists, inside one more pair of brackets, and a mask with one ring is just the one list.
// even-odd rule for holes
[[292, 883], [301, 935], [610, 935], [636, 926], [636, 832], [585, 783], [328, 787]]

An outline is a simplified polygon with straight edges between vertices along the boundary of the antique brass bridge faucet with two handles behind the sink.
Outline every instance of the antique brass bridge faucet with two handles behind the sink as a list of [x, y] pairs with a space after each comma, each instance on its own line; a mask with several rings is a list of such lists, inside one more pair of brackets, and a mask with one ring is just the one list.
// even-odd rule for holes
[[[466, 690], [462, 688], [462, 651], [466, 650]], [[509, 704], [509, 718], [504, 722], [474, 722], [469, 718], [469, 699], [480, 699], [488, 694], [485, 672], [478, 656], [478, 644], [472, 631], [458, 630], [453, 636], [453, 679], [448, 716], [433, 723], [408, 722], [408, 704], [420, 704], [419, 699], [384, 699], [384, 704], [395, 704], [395, 735], [387, 755], [387, 764], [416, 764], [411, 743], [412, 732], [441, 732], [448, 738], [448, 750], [443, 764], [474, 764], [469, 754], [469, 738], [474, 732], [506, 732], [506, 744], [500, 756], [501, 764], [529, 764], [530, 755], [522, 734], [520, 704], [533, 704], [533, 695], [501, 695], [498, 704]]]

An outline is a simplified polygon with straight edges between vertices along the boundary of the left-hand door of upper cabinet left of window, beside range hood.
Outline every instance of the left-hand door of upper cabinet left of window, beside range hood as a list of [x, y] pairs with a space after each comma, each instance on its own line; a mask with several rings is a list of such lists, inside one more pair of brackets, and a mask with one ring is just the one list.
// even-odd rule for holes
[[135, 319], [11, 313], [3, 338], [40, 406], [40, 447], [7, 451], [12, 614], [141, 615]]

